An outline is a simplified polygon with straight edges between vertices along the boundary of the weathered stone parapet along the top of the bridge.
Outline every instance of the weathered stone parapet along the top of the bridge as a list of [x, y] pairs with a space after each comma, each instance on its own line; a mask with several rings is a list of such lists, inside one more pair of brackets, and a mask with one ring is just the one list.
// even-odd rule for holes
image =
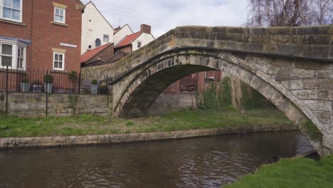
[[117, 63], [83, 68], [84, 73], [120, 75], [163, 52], [184, 46], [238, 53], [333, 61], [333, 25], [306, 27], [203, 27], [172, 29]]

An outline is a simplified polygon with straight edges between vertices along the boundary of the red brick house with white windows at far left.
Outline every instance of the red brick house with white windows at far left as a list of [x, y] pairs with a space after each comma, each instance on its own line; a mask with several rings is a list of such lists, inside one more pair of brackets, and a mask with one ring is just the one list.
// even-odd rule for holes
[[84, 9], [79, 0], [0, 0], [1, 70], [80, 71]]

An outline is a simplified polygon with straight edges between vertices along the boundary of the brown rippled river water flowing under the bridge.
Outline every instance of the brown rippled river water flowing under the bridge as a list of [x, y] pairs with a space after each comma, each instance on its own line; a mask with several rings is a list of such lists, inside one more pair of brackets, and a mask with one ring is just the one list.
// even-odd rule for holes
[[221, 187], [312, 150], [299, 132], [0, 151], [0, 187]]

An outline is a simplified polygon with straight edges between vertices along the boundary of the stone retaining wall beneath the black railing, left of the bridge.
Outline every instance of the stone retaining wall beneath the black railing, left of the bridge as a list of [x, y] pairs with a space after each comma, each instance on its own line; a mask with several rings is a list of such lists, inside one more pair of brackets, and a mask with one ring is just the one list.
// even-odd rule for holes
[[[9, 115], [45, 117], [46, 95], [46, 93], [9, 93]], [[48, 116], [112, 115], [112, 97], [107, 95], [48, 94], [47, 102]]]

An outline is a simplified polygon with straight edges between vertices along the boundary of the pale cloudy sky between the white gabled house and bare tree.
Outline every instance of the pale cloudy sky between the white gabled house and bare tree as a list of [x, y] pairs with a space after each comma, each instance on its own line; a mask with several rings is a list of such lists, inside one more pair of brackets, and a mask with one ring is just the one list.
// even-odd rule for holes
[[176, 26], [241, 26], [248, 12], [247, 0], [92, 1], [113, 28], [127, 23], [137, 32], [146, 23], [155, 38]]

